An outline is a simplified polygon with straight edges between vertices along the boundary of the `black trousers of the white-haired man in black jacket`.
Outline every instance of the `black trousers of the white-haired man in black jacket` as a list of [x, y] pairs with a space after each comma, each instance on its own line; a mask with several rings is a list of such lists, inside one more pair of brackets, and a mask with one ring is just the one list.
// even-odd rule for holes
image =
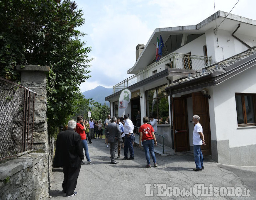
[[81, 163], [77, 168], [63, 166], [64, 180], [62, 183], [62, 189], [64, 192], [66, 192], [66, 196], [70, 196], [74, 194], [80, 168], [81, 168]]

